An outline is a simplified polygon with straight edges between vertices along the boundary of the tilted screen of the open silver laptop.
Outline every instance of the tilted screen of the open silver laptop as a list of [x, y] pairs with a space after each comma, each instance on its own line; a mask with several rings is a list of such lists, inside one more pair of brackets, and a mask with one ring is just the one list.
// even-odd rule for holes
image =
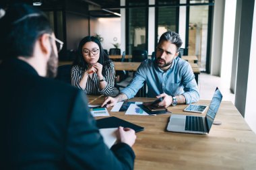
[[218, 112], [221, 101], [222, 101], [222, 93], [220, 93], [220, 90], [217, 87], [216, 91], [214, 93], [214, 97], [212, 97], [212, 101], [210, 103], [207, 114], [205, 116], [208, 133], [209, 133], [211, 127], [212, 127], [212, 124], [214, 122], [214, 118], [215, 118], [215, 116]]

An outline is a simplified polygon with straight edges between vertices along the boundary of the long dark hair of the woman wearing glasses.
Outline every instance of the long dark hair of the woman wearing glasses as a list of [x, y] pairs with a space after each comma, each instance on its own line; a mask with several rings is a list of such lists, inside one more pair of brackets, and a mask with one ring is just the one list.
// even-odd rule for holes
[[100, 41], [98, 38], [94, 36], [86, 36], [79, 42], [79, 46], [77, 48], [77, 55], [75, 57], [75, 60], [73, 62], [73, 65], [79, 65], [80, 67], [83, 67], [84, 69], [88, 66], [87, 62], [84, 60], [82, 48], [86, 42], [95, 42], [98, 44], [99, 47], [99, 52], [100, 52], [100, 57], [98, 58], [98, 62], [103, 66], [106, 67], [110, 63], [110, 59], [108, 57], [108, 54], [104, 51], [102, 48]]

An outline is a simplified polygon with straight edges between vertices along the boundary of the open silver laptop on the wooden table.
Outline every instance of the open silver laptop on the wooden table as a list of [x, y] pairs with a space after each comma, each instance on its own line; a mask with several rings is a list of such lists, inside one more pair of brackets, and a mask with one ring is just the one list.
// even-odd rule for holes
[[189, 116], [181, 114], [172, 114], [167, 126], [167, 130], [171, 132], [183, 132], [193, 134], [207, 134], [210, 132], [214, 118], [222, 101], [222, 93], [218, 87], [212, 97], [206, 116]]

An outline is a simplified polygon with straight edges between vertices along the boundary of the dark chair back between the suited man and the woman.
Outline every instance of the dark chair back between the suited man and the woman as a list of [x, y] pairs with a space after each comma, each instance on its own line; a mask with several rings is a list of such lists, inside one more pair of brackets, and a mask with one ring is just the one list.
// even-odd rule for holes
[[71, 65], [59, 66], [55, 79], [71, 84]]

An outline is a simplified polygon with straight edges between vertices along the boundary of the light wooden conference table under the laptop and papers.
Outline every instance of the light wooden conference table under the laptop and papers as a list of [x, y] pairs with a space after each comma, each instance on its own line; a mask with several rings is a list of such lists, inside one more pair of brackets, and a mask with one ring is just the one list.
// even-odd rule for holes
[[[90, 104], [100, 104], [102, 96], [88, 96]], [[133, 98], [131, 101], [154, 101]], [[210, 101], [199, 101], [209, 105]], [[169, 107], [172, 113], [185, 114], [186, 105]], [[256, 135], [230, 101], [222, 101], [210, 133], [183, 134], [166, 132], [170, 114], [128, 116], [125, 112], [110, 112], [123, 120], [143, 126], [133, 145], [135, 169], [255, 169]], [[188, 112], [186, 112], [187, 114]], [[198, 115], [198, 114], [195, 114]], [[96, 117], [96, 119], [103, 117]]]

